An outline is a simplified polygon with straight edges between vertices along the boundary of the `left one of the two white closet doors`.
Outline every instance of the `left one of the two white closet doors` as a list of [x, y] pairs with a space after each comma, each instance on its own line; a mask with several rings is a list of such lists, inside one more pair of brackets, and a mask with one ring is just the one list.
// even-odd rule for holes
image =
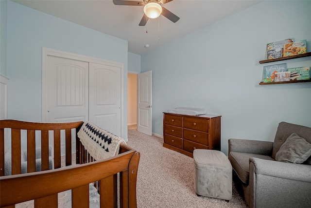
[[88, 62], [47, 56], [43, 99], [44, 122], [88, 119]]

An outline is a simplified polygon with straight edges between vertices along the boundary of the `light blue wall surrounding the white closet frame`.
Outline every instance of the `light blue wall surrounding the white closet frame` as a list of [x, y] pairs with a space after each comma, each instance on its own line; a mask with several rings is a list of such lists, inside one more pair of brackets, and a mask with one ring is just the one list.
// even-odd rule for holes
[[42, 47], [123, 63], [123, 121], [127, 139], [127, 41], [7, 2], [8, 118], [41, 121]]

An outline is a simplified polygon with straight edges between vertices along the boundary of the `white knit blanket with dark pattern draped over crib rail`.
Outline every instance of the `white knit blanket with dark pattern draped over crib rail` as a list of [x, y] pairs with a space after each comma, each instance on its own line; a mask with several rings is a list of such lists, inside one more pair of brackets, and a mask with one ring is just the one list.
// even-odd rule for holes
[[120, 136], [107, 132], [89, 121], [84, 122], [78, 132], [78, 137], [95, 160], [102, 160], [117, 155], [120, 144], [125, 143]]

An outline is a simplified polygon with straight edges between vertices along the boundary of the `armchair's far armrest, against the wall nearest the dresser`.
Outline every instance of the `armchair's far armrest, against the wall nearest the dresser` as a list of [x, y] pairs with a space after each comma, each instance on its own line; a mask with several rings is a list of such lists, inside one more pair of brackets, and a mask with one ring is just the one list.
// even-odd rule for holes
[[262, 155], [272, 155], [273, 142], [247, 139], [229, 139], [229, 152], [245, 152]]

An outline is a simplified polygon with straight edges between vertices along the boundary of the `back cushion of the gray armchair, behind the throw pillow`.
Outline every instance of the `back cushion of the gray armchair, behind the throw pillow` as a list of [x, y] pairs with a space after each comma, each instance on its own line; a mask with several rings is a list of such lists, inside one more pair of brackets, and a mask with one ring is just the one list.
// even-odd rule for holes
[[[297, 133], [300, 137], [304, 138], [311, 144], [311, 128], [306, 126], [300, 126], [296, 124], [281, 122], [278, 124], [276, 137], [273, 143], [272, 158], [276, 158], [276, 152], [279, 151], [280, 147], [286, 139], [292, 134]], [[311, 165], [311, 157], [306, 161], [307, 164]]]

